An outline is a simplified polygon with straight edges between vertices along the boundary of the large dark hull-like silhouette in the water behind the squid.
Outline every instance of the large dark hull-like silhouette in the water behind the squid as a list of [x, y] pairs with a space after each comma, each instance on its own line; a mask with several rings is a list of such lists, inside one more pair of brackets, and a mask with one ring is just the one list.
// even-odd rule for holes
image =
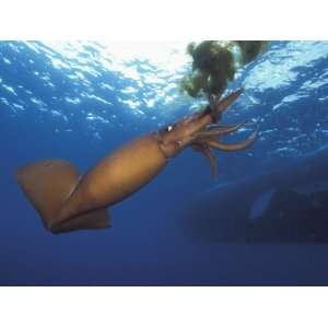
[[184, 231], [206, 243], [328, 243], [328, 149], [210, 190]]

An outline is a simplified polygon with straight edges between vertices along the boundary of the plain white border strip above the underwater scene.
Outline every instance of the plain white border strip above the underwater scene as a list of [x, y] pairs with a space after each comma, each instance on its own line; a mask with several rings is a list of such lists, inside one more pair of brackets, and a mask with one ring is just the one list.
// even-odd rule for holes
[[327, 39], [327, 1], [3, 0], [1, 39]]

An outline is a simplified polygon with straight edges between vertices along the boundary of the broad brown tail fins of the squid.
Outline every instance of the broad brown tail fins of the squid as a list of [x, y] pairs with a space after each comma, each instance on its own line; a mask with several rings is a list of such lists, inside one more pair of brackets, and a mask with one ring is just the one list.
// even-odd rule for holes
[[80, 180], [69, 162], [49, 160], [21, 167], [16, 179], [27, 199], [39, 213], [45, 227], [52, 233], [110, 226], [106, 209], [91, 211], [67, 220], [60, 211]]

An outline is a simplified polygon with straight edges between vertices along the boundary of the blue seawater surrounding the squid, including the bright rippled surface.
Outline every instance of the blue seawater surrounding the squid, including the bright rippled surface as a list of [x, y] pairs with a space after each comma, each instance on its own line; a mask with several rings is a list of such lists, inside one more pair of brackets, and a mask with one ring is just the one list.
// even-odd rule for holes
[[[56, 157], [85, 171], [128, 140], [196, 110], [202, 101], [177, 87], [190, 65], [186, 45], [0, 43], [1, 285], [328, 283], [325, 243], [207, 242], [184, 227], [185, 209], [199, 197], [327, 145], [327, 42], [271, 43], [238, 71], [229, 91], [243, 85], [246, 93], [224, 121], [258, 121], [260, 137], [249, 150], [218, 152], [216, 180], [187, 150], [110, 209], [112, 229], [55, 236], [19, 189], [21, 165]], [[256, 206], [262, 213], [263, 203]]]

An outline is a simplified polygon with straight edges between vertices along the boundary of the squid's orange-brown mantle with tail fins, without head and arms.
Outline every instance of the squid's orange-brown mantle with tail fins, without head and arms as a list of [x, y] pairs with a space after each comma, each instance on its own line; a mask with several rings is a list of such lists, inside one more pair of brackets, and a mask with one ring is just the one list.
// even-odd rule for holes
[[106, 207], [149, 183], [166, 164], [154, 136], [103, 159], [82, 178], [70, 163], [37, 162], [17, 171], [17, 181], [54, 233], [110, 226]]

